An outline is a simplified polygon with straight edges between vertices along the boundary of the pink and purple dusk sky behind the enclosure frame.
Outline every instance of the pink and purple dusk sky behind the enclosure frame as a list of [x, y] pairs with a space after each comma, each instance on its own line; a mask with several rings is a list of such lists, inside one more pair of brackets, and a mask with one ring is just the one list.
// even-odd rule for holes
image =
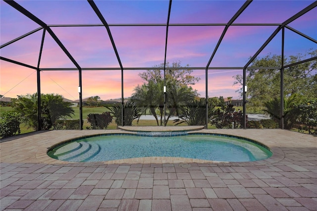
[[[16, 1], [47, 25], [101, 24], [86, 0], [18, 0]], [[173, 0], [170, 24], [226, 24], [245, 1], [241, 0]], [[314, 0], [254, 0], [234, 23], [282, 23]], [[164, 62], [166, 26], [111, 26], [111, 24], [166, 24], [168, 0], [96, 0], [107, 23], [123, 68], [153, 67]], [[317, 7], [288, 26], [317, 40]], [[40, 26], [0, 1], [0, 45], [6, 44]], [[277, 26], [230, 26], [210, 67], [243, 67], [263, 45]], [[118, 68], [104, 26], [51, 27], [55, 35], [82, 68]], [[169, 26], [166, 61], [181, 61], [183, 66], [206, 67], [224, 26]], [[37, 66], [43, 30], [0, 49], [0, 55]], [[285, 29], [285, 56], [317, 49], [317, 44]], [[267, 53], [281, 54], [281, 32], [259, 57]], [[308, 57], [307, 57], [308, 58]], [[303, 58], [305, 59], [305, 58]], [[40, 68], [75, 67], [49, 33], [45, 34]], [[124, 71], [124, 97], [142, 84], [141, 70]], [[232, 76], [241, 70], [209, 70], [209, 97], [233, 97], [239, 86]], [[206, 95], [205, 70], [194, 70], [201, 80], [193, 86], [201, 97]], [[17, 95], [37, 92], [36, 70], [0, 60], [0, 94]], [[83, 98], [100, 96], [102, 100], [121, 97], [120, 70], [82, 71]], [[41, 92], [58, 93], [69, 100], [79, 99], [78, 71], [42, 71]]]

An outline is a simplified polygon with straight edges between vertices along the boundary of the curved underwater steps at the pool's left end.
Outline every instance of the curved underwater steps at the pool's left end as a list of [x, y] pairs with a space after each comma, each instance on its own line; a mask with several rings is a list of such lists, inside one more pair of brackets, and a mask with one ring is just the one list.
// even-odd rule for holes
[[[59, 154], [56, 154], [57, 152], [56, 151], [54, 153], [54, 156], [56, 156], [57, 159], [60, 159], [60, 160], [73, 161], [73, 162], [85, 161], [86, 159], [89, 159], [100, 152], [100, 146], [98, 144], [87, 143], [87, 142], [79, 142], [78, 145], [73, 144], [70, 147], [67, 147], [66, 145], [65, 149], [62, 149], [62, 148], [60, 148], [61, 150], [58, 151]], [[66, 152], [66, 149], [70, 149], [70, 150]]]

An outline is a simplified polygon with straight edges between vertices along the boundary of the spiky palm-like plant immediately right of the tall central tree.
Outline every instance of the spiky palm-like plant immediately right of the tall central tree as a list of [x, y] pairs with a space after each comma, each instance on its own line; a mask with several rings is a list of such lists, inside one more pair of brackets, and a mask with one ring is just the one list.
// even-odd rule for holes
[[[208, 107], [208, 118], [213, 119], [214, 107]], [[185, 123], [187, 125], [206, 125], [206, 99], [193, 100], [186, 106], [180, 108], [178, 119], [174, 120], [175, 125]]]

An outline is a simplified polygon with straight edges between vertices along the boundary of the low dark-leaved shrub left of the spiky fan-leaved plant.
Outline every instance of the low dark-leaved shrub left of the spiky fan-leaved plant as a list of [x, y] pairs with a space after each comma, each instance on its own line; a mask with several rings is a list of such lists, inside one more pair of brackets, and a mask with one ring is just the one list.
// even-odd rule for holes
[[112, 116], [110, 112], [103, 113], [90, 113], [87, 118], [92, 129], [106, 129], [107, 126], [112, 122]]

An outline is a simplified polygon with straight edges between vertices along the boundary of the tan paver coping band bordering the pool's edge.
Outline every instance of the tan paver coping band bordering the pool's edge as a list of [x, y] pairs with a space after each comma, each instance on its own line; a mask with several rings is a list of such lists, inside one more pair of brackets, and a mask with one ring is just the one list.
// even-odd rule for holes
[[[152, 127], [153, 128], [153, 127]], [[121, 133], [121, 134], [136, 134], [137, 131], [140, 128], [135, 128], [135, 131], [131, 130], [91, 130], [91, 135], [101, 135], [101, 134], [115, 134], [115, 133]], [[162, 128], [159, 128], [159, 131], [161, 131]], [[152, 129], [153, 131], [153, 129]], [[188, 130], [187, 130], [188, 131]], [[220, 131], [220, 132], [218, 132]], [[188, 133], [206, 133], [206, 134], [223, 134], [223, 135], [230, 135], [230, 136], [236, 136], [236, 137], [242, 137], [237, 135], [228, 134], [228, 132], [233, 132], [232, 130], [223, 130], [224, 133], [221, 133], [222, 130], [208, 130], [208, 129], [201, 129], [201, 130], [193, 130], [188, 131]], [[267, 143], [262, 143], [261, 141], [255, 140], [254, 138], [249, 137], [243, 137], [247, 139], [254, 140], [256, 142], [259, 142], [263, 144], [264, 146], [267, 146], [270, 151], [272, 152], [272, 156], [267, 159], [263, 160], [257, 160], [257, 161], [247, 161], [247, 162], [227, 162], [227, 161], [216, 161], [216, 160], [204, 160], [204, 159], [195, 159], [195, 158], [178, 158], [178, 157], [143, 157], [143, 158], [126, 158], [126, 159], [117, 159], [117, 160], [108, 160], [108, 161], [98, 161], [98, 162], [69, 162], [69, 161], [63, 161], [63, 160], [57, 160], [54, 158], [51, 158], [47, 155], [47, 152], [50, 148], [53, 146], [56, 146], [58, 144], [61, 144], [67, 140], [77, 139], [77, 138], [83, 138], [85, 136], [89, 135], [78, 135], [76, 137], [73, 137], [71, 139], [62, 140], [59, 142], [54, 143], [50, 147], [45, 146], [38, 149], [38, 152], [35, 154], [35, 157], [43, 163], [49, 163], [54, 165], [71, 165], [71, 166], [96, 166], [96, 165], [105, 165], [105, 164], [122, 164], [122, 163], [208, 163], [208, 164], [214, 164], [214, 165], [220, 165], [220, 166], [256, 166], [256, 165], [265, 165], [265, 164], [272, 164], [275, 162], [278, 162], [282, 160], [285, 157], [284, 152], [276, 148], [274, 146], [269, 146]]]

